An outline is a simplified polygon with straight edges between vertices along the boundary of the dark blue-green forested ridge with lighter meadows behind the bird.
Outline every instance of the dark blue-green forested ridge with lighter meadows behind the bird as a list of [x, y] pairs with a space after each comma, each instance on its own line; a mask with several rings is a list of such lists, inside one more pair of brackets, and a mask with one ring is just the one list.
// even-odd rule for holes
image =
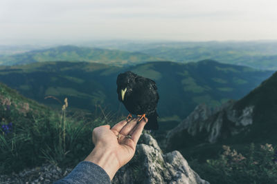
[[69, 98], [71, 108], [96, 110], [97, 105], [123, 112], [116, 94], [116, 77], [132, 70], [157, 82], [161, 117], [186, 117], [199, 103], [216, 107], [228, 99], [240, 99], [271, 71], [226, 65], [215, 61], [198, 63], [152, 62], [127, 68], [86, 62], [46, 62], [0, 67], [0, 81], [41, 103], [59, 105], [53, 99]]

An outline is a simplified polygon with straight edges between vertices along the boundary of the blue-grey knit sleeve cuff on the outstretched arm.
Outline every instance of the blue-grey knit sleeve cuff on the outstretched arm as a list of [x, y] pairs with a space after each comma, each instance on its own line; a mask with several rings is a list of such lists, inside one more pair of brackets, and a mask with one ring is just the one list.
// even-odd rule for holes
[[82, 161], [65, 178], [55, 181], [53, 184], [68, 183], [111, 183], [109, 175], [99, 165], [89, 161]]

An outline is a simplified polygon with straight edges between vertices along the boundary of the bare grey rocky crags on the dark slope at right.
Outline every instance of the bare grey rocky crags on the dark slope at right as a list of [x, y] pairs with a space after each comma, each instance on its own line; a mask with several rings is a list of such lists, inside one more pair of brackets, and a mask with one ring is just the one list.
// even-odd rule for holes
[[244, 131], [244, 127], [253, 123], [254, 106], [235, 110], [234, 105], [235, 101], [228, 101], [213, 111], [207, 105], [198, 105], [184, 121], [168, 132], [168, 143], [174, 139], [174, 136], [184, 134], [184, 132], [190, 136], [206, 134], [204, 138], [206, 140], [203, 141], [215, 143], [220, 138]]

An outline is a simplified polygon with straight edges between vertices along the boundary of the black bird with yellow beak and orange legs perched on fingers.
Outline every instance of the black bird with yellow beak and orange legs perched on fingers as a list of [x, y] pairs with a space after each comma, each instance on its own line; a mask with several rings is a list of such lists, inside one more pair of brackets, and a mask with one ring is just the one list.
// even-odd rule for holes
[[159, 127], [157, 122], [159, 94], [156, 83], [128, 71], [118, 74], [116, 84], [118, 100], [130, 113], [127, 119], [132, 118], [132, 114], [141, 116], [141, 119], [146, 116], [148, 123], [144, 127], [145, 130], [157, 130]]

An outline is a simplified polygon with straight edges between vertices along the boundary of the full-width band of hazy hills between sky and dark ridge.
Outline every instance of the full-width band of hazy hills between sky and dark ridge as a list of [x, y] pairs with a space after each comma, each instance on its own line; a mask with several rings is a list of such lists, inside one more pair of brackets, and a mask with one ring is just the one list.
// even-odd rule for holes
[[[87, 61], [109, 65], [136, 65], [148, 61], [180, 63], [212, 59], [220, 63], [277, 70], [274, 41], [128, 42], [107, 41], [84, 46], [0, 45], [0, 65], [21, 65], [44, 61]], [[28, 52], [24, 52], [30, 50]]]

